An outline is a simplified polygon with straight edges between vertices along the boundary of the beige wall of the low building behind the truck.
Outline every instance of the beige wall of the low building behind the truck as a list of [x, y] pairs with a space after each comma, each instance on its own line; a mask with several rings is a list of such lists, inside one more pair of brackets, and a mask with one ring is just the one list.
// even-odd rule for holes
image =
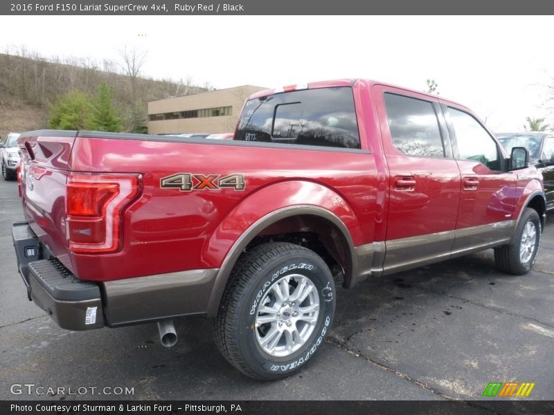
[[[244, 85], [148, 102], [148, 132], [150, 134], [232, 133], [235, 131], [244, 101], [251, 94], [264, 89], [267, 88]], [[154, 114], [181, 113], [182, 111], [220, 107], [231, 107], [231, 115], [150, 120]]]

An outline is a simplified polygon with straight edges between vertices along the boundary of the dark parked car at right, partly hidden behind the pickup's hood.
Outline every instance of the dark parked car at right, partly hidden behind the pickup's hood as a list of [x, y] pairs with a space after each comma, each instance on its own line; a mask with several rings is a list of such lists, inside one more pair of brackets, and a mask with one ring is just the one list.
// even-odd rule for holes
[[497, 133], [501, 145], [508, 151], [512, 147], [526, 147], [531, 163], [542, 173], [546, 209], [554, 209], [554, 134], [544, 131], [524, 131], [520, 133]]

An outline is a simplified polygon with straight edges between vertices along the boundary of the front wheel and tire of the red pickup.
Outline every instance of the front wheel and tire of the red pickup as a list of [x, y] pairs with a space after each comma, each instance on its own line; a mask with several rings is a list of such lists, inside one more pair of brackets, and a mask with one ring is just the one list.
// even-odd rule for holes
[[497, 268], [514, 275], [528, 273], [541, 244], [541, 221], [537, 211], [531, 208], [521, 214], [514, 238], [508, 245], [494, 248]]

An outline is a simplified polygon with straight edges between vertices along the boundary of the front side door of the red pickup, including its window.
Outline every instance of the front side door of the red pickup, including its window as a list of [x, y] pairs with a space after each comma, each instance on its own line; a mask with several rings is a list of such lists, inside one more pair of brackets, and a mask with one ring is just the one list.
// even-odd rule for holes
[[462, 179], [456, 255], [510, 238], [520, 190], [517, 174], [506, 172], [507, 160], [492, 133], [467, 109], [442, 107]]

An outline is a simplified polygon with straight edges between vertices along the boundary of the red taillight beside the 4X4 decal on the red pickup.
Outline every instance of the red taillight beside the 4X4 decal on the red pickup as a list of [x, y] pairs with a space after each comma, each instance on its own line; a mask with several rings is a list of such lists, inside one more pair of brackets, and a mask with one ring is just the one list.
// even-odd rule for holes
[[66, 185], [66, 232], [73, 252], [118, 249], [123, 209], [139, 192], [139, 176], [70, 174]]

